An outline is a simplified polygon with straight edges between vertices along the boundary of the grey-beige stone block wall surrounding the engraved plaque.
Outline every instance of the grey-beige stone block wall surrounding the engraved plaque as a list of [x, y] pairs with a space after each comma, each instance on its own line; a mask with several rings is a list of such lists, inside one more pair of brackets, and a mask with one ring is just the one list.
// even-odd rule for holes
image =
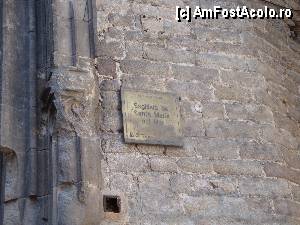
[[[300, 224], [300, 45], [289, 26], [175, 21], [175, 5], [269, 2], [97, 0], [103, 193], [122, 204], [101, 224]], [[125, 144], [121, 87], [179, 95], [184, 147]]]

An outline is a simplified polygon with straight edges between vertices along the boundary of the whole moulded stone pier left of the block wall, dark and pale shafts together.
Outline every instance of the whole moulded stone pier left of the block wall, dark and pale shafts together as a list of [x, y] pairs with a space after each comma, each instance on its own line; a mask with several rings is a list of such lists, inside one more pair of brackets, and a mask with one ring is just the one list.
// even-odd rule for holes
[[93, 18], [92, 0], [1, 1], [1, 225], [99, 223]]

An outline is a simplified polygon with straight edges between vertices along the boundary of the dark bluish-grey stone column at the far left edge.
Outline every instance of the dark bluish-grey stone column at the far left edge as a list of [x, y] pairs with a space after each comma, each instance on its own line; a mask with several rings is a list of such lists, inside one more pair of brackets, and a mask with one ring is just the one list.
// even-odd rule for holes
[[32, 224], [36, 199], [33, 1], [0, 5], [0, 224]]

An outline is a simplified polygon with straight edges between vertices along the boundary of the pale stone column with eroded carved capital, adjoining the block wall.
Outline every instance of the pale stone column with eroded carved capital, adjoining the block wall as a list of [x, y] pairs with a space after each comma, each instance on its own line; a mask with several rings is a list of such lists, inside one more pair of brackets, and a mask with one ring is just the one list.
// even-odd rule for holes
[[52, 224], [99, 224], [101, 158], [93, 5], [90, 0], [52, 5], [54, 51], [47, 84], [56, 110], [50, 131]]

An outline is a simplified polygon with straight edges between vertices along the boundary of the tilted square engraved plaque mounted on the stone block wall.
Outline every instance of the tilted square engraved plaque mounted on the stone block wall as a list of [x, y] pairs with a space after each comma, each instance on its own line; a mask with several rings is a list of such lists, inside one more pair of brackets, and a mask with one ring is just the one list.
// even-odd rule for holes
[[178, 97], [129, 89], [121, 95], [126, 143], [183, 145]]

